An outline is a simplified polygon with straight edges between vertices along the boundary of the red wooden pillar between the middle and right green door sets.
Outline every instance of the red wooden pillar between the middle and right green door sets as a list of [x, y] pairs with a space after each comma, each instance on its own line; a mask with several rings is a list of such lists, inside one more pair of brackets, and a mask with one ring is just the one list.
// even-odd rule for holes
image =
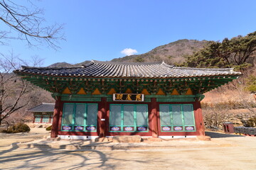
[[151, 98], [151, 113], [149, 116], [149, 122], [151, 122], [152, 137], [158, 137], [158, 126], [157, 126], [157, 103], [156, 98]]

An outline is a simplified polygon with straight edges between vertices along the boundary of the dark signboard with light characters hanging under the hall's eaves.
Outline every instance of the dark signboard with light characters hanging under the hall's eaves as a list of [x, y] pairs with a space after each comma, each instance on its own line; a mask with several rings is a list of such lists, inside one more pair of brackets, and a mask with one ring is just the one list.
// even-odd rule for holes
[[113, 101], [144, 101], [144, 94], [113, 94]]

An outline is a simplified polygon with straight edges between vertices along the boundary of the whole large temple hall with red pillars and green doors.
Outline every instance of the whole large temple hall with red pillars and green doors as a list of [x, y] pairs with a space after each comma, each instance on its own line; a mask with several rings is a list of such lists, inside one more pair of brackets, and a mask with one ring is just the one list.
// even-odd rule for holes
[[22, 67], [14, 73], [52, 93], [51, 137], [63, 139], [205, 135], [203, 94], [241, 74], [164, 62], [97, 61], [81, 67]]

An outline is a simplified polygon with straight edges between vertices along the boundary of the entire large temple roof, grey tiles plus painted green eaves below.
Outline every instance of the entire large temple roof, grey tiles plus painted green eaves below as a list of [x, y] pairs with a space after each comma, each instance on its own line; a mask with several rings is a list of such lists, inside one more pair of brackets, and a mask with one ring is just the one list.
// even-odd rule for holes
[[[119, 63], [92, 61], [81, 67], [22, 67], [14, 71], [52, 93], [115, 93], [171, 95], [203, 94], [238, 79], [233, 69], [198, 69], [174, 67], [164, 62]], [[143, 93], [142, 93], [143, 94]]]

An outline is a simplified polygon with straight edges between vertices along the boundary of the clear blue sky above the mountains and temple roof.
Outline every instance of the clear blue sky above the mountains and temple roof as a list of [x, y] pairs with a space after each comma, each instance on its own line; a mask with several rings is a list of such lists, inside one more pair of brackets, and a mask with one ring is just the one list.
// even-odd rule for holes
[[0, 52], [6, 54], [13, 50], [24, 60], [38, 55], [45, 59], [44, 66], [55, 62], [107, 61], [124, 57], [122, 51], [126, 48], [143, 54], [185, 38], [223, 40], [256, 30], [254, 0], [43, 0], [36, 3], [45, 9], [48, 25], [65, 24], [66, 41], [60, 42], [61, 49], [29, 48], [26, 42], [13, 40], [9, 46], [1, 45]]

